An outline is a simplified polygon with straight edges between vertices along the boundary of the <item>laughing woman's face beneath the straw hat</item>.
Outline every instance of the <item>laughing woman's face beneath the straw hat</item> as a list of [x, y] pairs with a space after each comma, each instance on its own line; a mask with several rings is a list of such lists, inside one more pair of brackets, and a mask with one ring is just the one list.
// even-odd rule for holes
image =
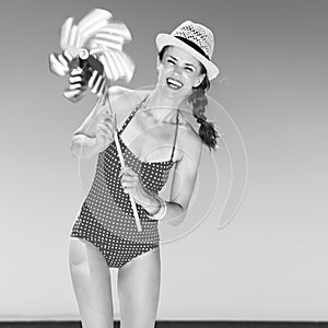
[[199, 61], [186, 50], [173, 46], [166, 49], [157, 69], [159, 84], [171, 96], [187, 96], [204, 78], [200, 74]]

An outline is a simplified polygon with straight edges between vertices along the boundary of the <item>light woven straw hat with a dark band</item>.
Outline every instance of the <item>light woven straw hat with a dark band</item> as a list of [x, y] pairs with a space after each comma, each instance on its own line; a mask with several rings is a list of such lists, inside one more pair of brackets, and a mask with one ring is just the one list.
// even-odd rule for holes
[[156, 46], [159, 51], [164, 46], [175, 46], [188, 51], [204, 66], [209, 80], [219, 74], [219, 68], [211, 61], [214, 50], [213, 33], [201, 24], [186, 21], [171, 34], [160, 33], [156, 36]]

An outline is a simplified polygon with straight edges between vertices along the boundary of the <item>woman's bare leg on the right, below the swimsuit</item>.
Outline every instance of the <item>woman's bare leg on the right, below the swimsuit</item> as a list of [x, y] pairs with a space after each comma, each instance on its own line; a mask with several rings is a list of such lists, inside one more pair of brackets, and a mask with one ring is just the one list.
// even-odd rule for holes
[[120, 328], [153, 328], [160, 298], [160, 247], [122, 266], [117, 276]]

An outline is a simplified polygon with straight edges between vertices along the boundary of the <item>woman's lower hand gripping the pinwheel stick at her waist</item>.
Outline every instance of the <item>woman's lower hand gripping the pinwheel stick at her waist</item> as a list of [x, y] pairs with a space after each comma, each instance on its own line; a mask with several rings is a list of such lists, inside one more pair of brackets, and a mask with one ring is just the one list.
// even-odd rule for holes
[[142, 186], [138, 174], [130, 167], [125, 167], [119, 173], [124, 191], [130, 194], [136, 202], [147, 204], [149, 192]]

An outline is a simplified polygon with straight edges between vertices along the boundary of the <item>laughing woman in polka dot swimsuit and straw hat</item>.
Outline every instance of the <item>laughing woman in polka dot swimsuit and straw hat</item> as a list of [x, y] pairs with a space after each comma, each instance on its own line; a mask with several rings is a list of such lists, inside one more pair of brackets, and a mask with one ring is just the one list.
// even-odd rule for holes
[[[206, 121], [204, 92], [219, 69], [211, 61], [213, 35], [206, 26], [184, 22], [172, 34], [159, 34], [157, 84], [154, 90], [113, 86], [75, 131], [75, 156], [98, 155], [91, 190], [74, 222], [70, 271], [83, 328], [113, 325], [108, 268], [118, 269], [122, 328], [154, 327], [161, 281], [159, 220], [174, 226], [186, 214], [197, 177], [202, 143], [215, 148], [218, 133]], [[180, 110], [191, 104], [199, 134]], [[110, 114], [113, 113], [113, 114]], [[138, 115], [137, 115], [138, 114]], [[117, 128], [126, 167], [120, 168]], [[159, 191], [173, 172], [169, 200]], [[136, 201], [138, 232], [129, 197]]]

